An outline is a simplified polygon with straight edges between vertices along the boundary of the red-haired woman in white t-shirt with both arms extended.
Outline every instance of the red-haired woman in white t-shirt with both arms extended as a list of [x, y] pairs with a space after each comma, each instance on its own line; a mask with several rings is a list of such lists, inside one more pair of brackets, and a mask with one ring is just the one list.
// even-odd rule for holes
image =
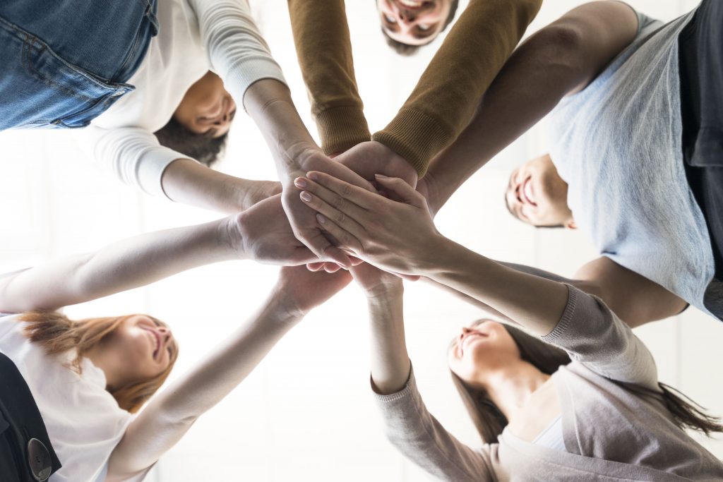
[[[304, 314], [351, 280], [346, 272], [325, 276], [305, 267], [283, 268], [260, 310], [155, 397], [179, 353], [166, 323], [146, 314], [73, 320], [58, 312], [203, 264], [312, 259], [305, 248], [268, 251], [268, 241], [285, 230], [252, 224], [242, 213], [147, 233], [0, 277], [0, 420], [27, 419], [25, 410], [34, 400], [45, 423], [33, 434], [25, 423], [0, 424], [2, 480], [46, 480], [51, 471], [54, 482], [141, 480]], [[262, 246], [254, 230], [262, 233]], [[293, 244], [282, 241], [281, 246]], [[297, 249], [307, 255], [299, 257]], [[18, 402], [23, 391], [31, 395], [25, 406]], [[45, 430], [37, 442], [35, 434]], [[43, 449], [42, 439], [51, 447]], [[27, 474], [28, 459], [35, 479]]]

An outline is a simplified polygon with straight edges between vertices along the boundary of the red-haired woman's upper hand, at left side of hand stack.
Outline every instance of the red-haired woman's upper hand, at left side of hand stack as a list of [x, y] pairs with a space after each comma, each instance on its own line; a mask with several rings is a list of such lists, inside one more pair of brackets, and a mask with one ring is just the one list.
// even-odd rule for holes
[[281, 194], [236, 215], [233, 231], [236, 249], [257, 262], [296, 265], [317, 259], [291, 231]]

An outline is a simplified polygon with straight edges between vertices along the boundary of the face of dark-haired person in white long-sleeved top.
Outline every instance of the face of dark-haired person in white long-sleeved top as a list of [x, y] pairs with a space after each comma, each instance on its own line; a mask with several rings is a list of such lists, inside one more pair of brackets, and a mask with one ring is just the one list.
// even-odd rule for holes
[[174, 112], [181, 125], [196, 134], [221, 137], [231, 128], [236, 115], [236, 103], [223, 88], [221, 77], [208, 72], [184, 95]]

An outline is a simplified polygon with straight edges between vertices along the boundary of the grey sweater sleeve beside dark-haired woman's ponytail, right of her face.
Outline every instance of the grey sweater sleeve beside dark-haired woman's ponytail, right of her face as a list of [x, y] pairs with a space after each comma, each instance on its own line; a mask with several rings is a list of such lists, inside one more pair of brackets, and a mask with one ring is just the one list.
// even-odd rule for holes
[[542, 340], [608, 379], [658, 390], [655, 361], [625, 322], [600, 298], [568, 285], [568, 305], [560, 322]]

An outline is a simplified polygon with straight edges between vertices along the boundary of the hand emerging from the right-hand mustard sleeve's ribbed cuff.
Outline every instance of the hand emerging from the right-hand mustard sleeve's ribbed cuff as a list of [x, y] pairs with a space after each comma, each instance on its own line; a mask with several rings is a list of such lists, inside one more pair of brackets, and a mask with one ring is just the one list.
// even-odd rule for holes
[[376, 174], [402, 178], [410, 186], [416, 186], [416, 170], [401, 155], [381, 142], [362, 142], [335, 158], [367, 181], [375, 181]]

